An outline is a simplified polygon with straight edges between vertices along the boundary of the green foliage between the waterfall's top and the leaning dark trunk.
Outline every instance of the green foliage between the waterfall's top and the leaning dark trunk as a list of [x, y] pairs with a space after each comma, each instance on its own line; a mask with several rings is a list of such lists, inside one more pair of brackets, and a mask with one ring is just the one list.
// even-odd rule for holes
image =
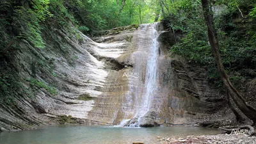
[[173, 45], [170, 51], [201, 65], [213, 63], [211, 47], [207, 42], [202, 10], [200, 10], [200, 2], [173, 1], [167, 4], [170, 10], [166, 9], [169, 14], [164, 19], [170, 20], [170, 29], [186, 33], [184, 38]]

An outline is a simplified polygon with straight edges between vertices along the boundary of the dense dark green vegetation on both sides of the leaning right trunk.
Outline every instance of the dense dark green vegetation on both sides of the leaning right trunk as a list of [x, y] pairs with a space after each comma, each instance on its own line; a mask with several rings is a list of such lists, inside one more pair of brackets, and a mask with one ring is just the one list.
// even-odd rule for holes
[[[223, 65], [230, 80], [243, 89], [243, 82], [256, 76], [255, 1], [212, 2]], [[209, 81], [222, 88], [207, 38], [201, 1], [172, 1], [166, 5], [164, 19], [170, 20], [170, 28], [186, 34], [170, 51], [191, 63], [207, 66]]]

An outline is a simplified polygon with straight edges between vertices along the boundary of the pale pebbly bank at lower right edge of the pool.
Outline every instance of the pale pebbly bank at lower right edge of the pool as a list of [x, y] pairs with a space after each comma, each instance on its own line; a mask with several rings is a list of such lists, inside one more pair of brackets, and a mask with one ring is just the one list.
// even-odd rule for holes
[[250, 143], [256, 144], [256, 136], [247, 136], [245, 134], [217, 134], [202, 136], [186, 136], [181, 138], [159, 138], [163, 144], [184, 144], [184, 143]]

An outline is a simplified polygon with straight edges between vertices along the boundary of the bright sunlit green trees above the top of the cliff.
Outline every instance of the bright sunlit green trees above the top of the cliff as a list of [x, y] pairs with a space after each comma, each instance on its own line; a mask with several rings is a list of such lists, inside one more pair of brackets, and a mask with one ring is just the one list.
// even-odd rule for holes
[[68, 13], [74, 15], [83, 33], [98, 29], [112, 29], [131, 24], [154, 22], [154, 1], [126, 0], [65, 0]]

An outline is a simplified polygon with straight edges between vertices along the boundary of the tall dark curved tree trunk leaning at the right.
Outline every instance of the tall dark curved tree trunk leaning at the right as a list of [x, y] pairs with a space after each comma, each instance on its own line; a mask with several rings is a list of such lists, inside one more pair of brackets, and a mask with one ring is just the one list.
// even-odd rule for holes
[[237, 92], [236, 88], [234, 88], [234, 86], [230, 82], [229, 77], [223, 67], [223, 63], [222, 63], [221, 57], [220, 57], [218, 38], [217, 38], [216, 30], [215, 30], [214, 24], [213, 24], [211, 3], [209, 3], [208, 0], [201, 0], [201, 1], [202, 1], [202, 7], [203, 7], [203, 11], [204, 11], [205, 23], [207, 24], [207, 32], [208, 32], [209, 42], [210, 42], [210, 45], [212, 48], [212, 53], [214, 55], [217, 65], [218, 65], [218, 70], [220, 72], [220, 76], [223, 81], [223, 84], [224, 84], [225, 88], [227, 88], [227, 91], [230, 94], [230, 97], [234, 100], [237, 107], [244, 113], [244, 115], [246, 115], [248, 118], [253, 120], [253, 122], [255, 123], [256, 122], [256, 109], [252, 108], [252, 106], [250, 106], [244, 100], [244, 98], [240, 95], [240, 93]]

